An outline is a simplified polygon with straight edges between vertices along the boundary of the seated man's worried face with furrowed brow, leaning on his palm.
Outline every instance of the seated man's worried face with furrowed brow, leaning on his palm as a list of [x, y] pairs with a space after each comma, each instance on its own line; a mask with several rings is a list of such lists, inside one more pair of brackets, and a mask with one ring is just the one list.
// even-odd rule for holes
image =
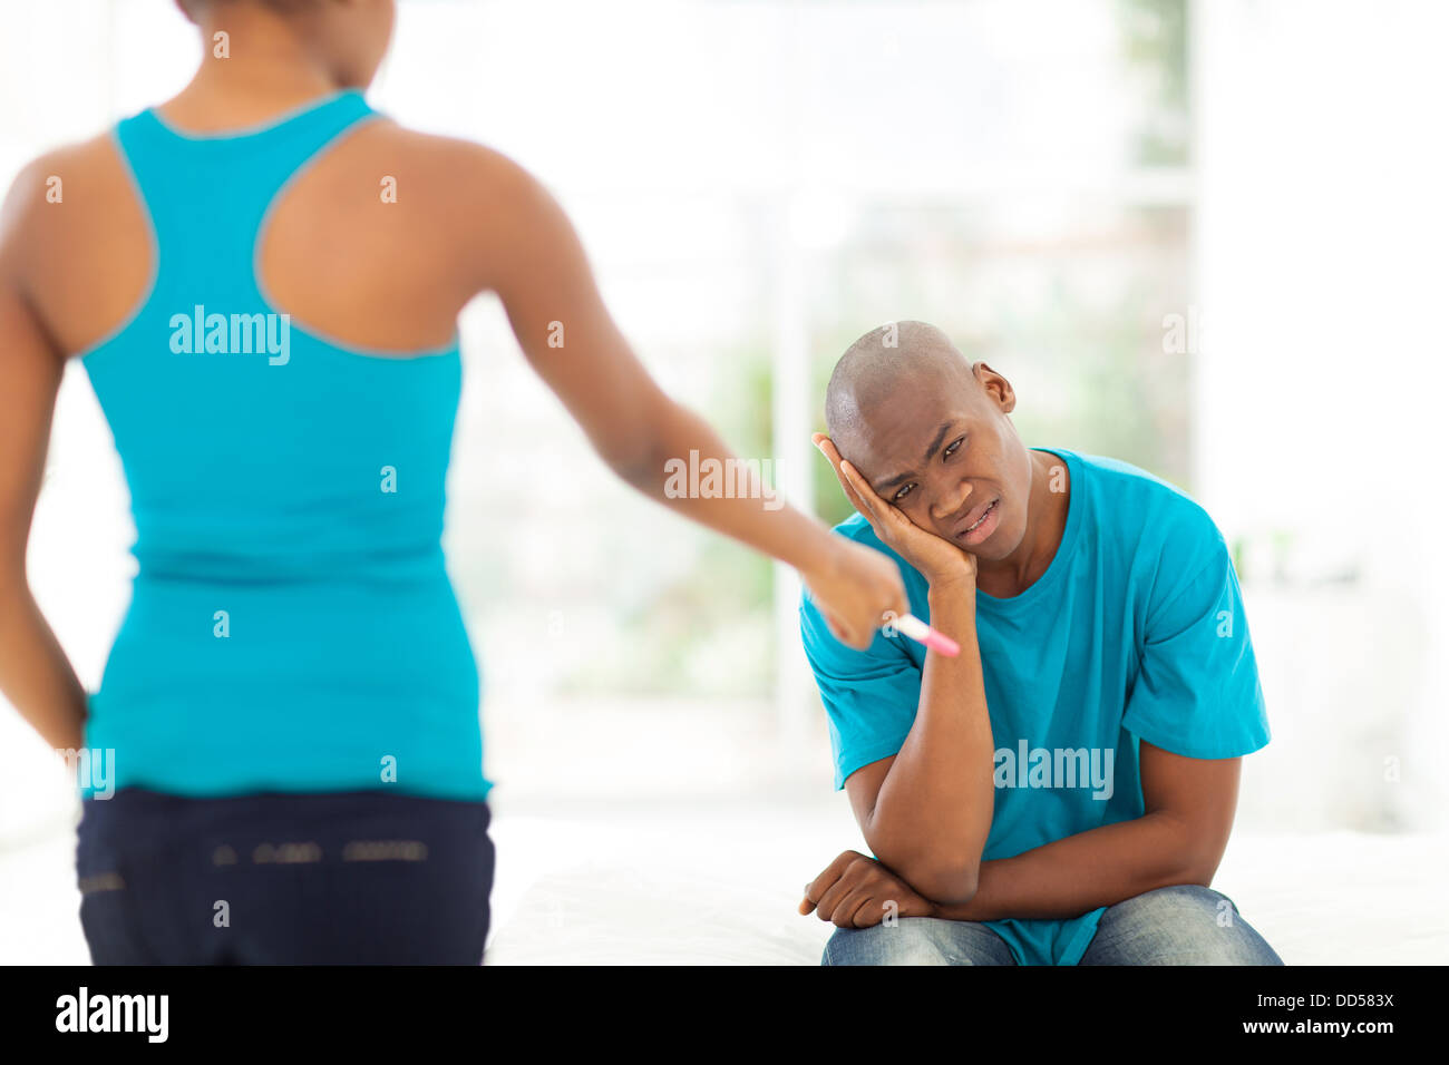
[[903, 374], [836, 448], [911, 523], [1001, 559], [1026, 535], [1032, 459], [1006, 417], [1010, 385], [984, 365], [980, 378], [965, 361]]

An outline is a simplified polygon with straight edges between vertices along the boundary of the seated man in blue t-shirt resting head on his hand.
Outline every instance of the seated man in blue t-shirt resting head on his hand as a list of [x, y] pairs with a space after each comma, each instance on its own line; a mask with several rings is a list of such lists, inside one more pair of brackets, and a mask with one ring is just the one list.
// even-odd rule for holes
[[946, 658], [890, 627], [806, 655], [836, 788], [874, 852], [807, 888], [827, 965], [1281, 965], [1210, 888], [1242, 755], [1268, 739], [1232, 559], [1208, 514], [1110, 458], [1027, 449], [1011, 384], [936, 327], [840, 358], [816, 443]]

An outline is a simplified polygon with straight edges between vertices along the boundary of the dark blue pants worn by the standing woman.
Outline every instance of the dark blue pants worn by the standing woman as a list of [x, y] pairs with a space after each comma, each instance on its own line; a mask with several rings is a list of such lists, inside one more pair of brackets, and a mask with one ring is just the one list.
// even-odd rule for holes
[[478, 965], [488, 807], [388, 791], [83, 803], [97, 965]]

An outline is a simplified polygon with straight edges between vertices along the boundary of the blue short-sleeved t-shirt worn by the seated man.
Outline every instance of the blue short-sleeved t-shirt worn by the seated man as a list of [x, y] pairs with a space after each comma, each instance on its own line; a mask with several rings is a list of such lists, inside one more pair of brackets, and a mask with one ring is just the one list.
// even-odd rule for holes
[[[1066, 464], [1062, 542], [1020, 596], [977, 591], [995, 743], [984, 861], [1142, 817], [1139, 739], [1187, 758], [1236, 758], [1269, 739], [1237, 575], [1207, 511], [1126, 462], [1037, 451]], [[894, 558], [911, 613], [929, 620], [926, 580], [865, 519], [836, 532]], [[830, 635], [809, 596], [800, 630], [830, 719], [839, 790], [901, 749], [926, 649], [878, 630], [855, 651]], [[1075, 965], [1104, 910], [987, 924], [1020, 965]]]

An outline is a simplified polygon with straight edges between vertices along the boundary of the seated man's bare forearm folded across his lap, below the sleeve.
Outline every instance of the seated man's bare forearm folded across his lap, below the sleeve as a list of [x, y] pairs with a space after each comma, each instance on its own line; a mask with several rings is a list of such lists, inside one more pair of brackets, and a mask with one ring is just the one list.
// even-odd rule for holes
[[977, 894], [938, 906], [951, 920], [1075, 917], [1169, 884], [1208, 887], [1237, 809], [1242, 758], [1184, 758], [1140, 743], [1146, 813], [981, 864]]

